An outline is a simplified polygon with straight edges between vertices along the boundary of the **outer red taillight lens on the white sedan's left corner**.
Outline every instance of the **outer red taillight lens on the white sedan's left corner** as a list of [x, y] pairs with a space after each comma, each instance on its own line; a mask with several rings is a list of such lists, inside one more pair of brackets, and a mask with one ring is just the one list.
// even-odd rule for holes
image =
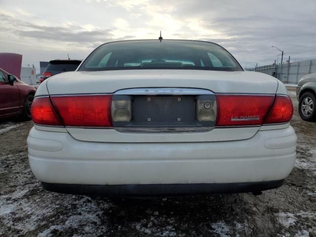
[[32, 102], [31, 115], [33, 122], [36, 124], [62, 125], [52, 108], [49, 97], [35, 98]]

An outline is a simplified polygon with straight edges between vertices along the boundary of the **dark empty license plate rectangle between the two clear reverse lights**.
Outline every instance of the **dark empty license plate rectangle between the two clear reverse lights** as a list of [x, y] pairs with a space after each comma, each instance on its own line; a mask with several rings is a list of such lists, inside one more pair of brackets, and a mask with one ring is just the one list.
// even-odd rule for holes
[[147, 127], [179, 127], [195, 122], [195, 96], [134, 96], [134, 123]]

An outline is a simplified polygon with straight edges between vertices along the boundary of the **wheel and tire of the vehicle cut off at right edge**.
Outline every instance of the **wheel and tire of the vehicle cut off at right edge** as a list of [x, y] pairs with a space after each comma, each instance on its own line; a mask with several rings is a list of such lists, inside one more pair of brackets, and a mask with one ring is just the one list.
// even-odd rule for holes
[[305, 92], [301, 96], [298, 113], [306, 121], [316, 121], [316, 98], [312, 92]]

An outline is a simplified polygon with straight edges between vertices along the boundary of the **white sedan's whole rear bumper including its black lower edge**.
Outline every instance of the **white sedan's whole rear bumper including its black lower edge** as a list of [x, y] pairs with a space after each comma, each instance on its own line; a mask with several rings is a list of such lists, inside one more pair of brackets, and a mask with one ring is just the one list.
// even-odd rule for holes
[[83, 142], [33, 128], [27, 141], [31, 169], [44, 187], [80, 194], [254, 192], [280, 186], [296, 157], [291, 126], [240, 141], [181, 143]]

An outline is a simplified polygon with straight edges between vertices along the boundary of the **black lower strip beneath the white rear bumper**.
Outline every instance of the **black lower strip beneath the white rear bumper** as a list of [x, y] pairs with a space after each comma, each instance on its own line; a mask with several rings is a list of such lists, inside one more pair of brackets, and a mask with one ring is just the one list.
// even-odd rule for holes
[[228, 184], [134, 184], [134, 185], [79, 185], [42, 183], [45, 190], [63, 194], [92, 196], [177, 196], [203, 194], [257, 193], [276, 189], [284, 180], [228, 183]]

